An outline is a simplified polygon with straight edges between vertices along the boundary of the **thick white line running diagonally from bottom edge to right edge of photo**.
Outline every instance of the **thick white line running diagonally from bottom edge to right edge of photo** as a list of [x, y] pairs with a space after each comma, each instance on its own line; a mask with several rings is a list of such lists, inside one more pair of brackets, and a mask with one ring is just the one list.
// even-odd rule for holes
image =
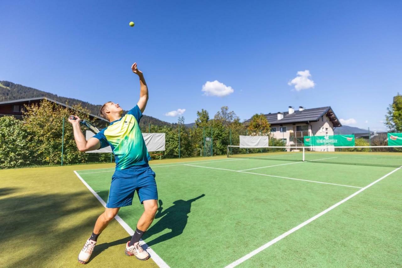
[[345, 199], [339, 201], [338, 203], [334, 204], [333, 206], [330, 206], [330, 207], [327, 208], [326, 210], [324, 210], [324, 211], [318, 213], [316, 216], [314, 216], [314, 217], [308, 219], [308, 220], [305, 221], [304, 223], [301, 223], [301, 224], [297, 225], [296, 227], [290, 229], [289, 231], [283, 233], [282, 235], [279, 235], [278, 237], [276, 237], [275, 239], [272, 239], [271, 241], [269, 241], [269, 242], [266, 243], [265, 245], [262, 245], [262, 246], [258, 247], [257, 249], [254, 249], [252, 252], [250, 252], [250, 253], [247, 254], [246, 256], [244, 256], [244, 257], [242, 257], [242, 258], [240, 258], [240, 259], [238, 259], [238, 260], [232, 262], [231, 264], [229, 264], [229, 265], [226, 266], [225, 268], [233, 268], [233, 267], [235, 267], [235, 266], [241, 264], [242, 262], [244, 262], [244, 261], [250, 259], [252, 256], [258, 254], [259, 252], [263, 251], [263, 250], [266, 249], [267, 247], [269, 247], [269, 246], [275, 244], [276, 242], [278, 242], [278, 241], [281, 240], [282, 238], [287, 237], [287, 236], [290, 235], [291, 233], [293, 233], [293, 232], [299, 230], [301, 227], [303, 227], [303, 226], [305, 226], [305, 225], [308, 225], [309, 223], [311, 223], [312, 221], [314, 221], [314, 220], [317, 219], [318, 217], [324, 215], [326, 212], [328, 212], [328, 211], [330, 211], [330, 210], [336, 208], [336, 207], [339, 206], [340, 204], [342, 204], [342, 203], [346, 202], [347, 200], [351, 199], [353, 196], [355, 196], [355, 195], [357, 195], [357, 194], [363, 192], [363, 191], [366, 190], [367, 188], [373, 186], [375, 183], [377, 183], [377, 182], [381, 181], [382, 179], [388, 177], [389, 175], [391, 175], [392, 173], [394, 173], [395, 171], [397, 171], [397, 170], [400, 169], [400, 168], [401, 168], [401, 167], [398, 167], [398, 168], [394, 169], [394, 170], [391, 171], [390, 173], [384, 175], [383, 177], [377, 179], [376, 181], [373, 181], [372, 183], [370, 183], [370, 184], [367, 185], [366, 187], [361, 188], [359, 191], [357, 191], [357, 192], [351, 194], [350, 196], [348, 196], [347, 198], [345, 198]]

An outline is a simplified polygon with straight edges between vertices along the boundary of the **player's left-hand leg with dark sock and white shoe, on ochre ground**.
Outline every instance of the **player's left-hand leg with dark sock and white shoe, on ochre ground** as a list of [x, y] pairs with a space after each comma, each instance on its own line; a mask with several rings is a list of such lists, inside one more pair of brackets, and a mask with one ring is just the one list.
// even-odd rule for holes
[[105, 212], [100, 214], [96, 220], [94, 231], [91, 237], [86, 241], [84, 247], [82, 248], [80, 254], [78, 255], [78, 262], [86, 264], [94, 251], [96, 241], [100, 233], [107, 227], [111, 220], [115, 218], [117, 212], [120, 208], [106, 208]]

